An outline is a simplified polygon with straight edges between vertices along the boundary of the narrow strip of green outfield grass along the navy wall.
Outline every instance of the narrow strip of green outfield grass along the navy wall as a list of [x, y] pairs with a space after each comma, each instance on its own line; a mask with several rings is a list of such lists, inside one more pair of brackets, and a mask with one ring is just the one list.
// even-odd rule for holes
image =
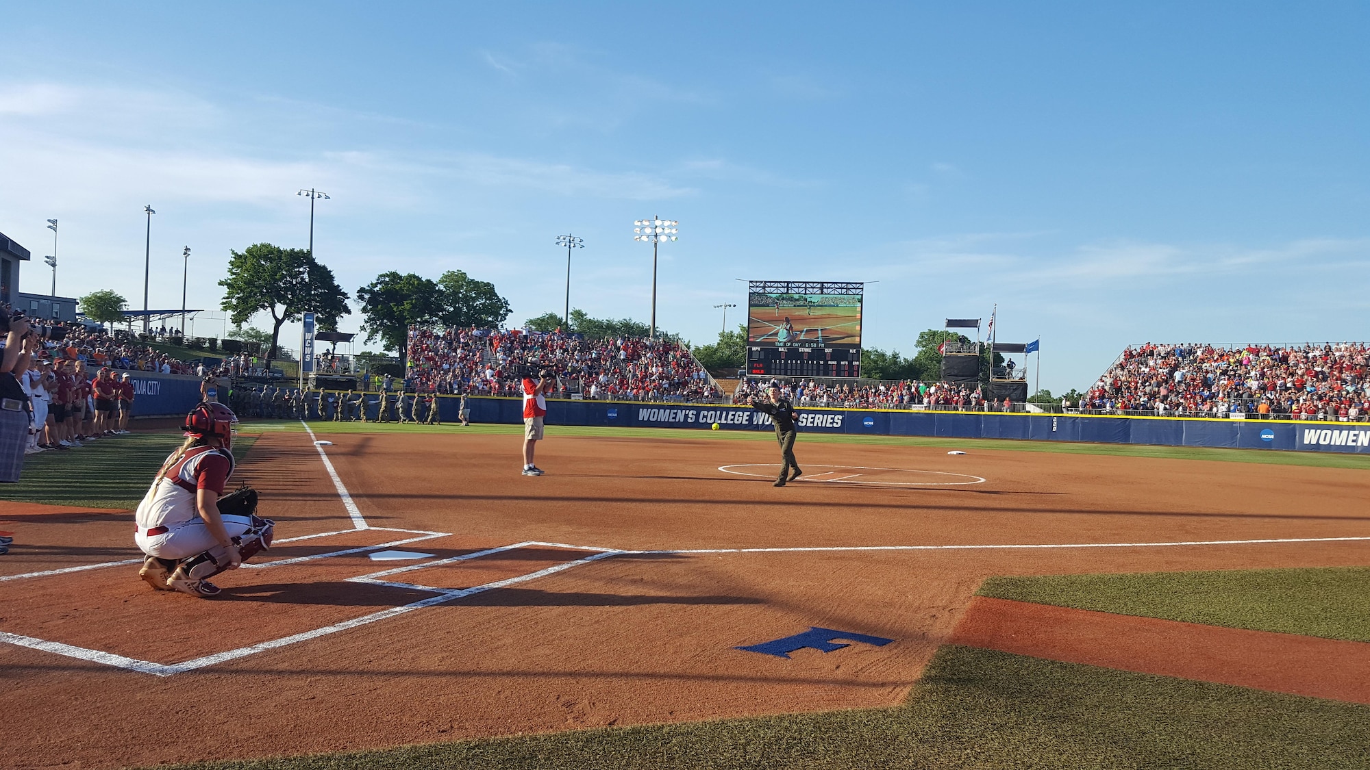
[[[252, 422], [253, 430], [303, 430], [299, 422]], [[247, 427], [245, 427], [247, 429]], [[315, 433], [452, 433], [518, 436], [522, 425], [399, 425], [393, 422], [311, 422]], [[690, 438], [696, 441], [774, 441], [769, 430], [696, 430], [685, 427], [588, 427], [548, 425], [547, 440], [559, 436], [614, 438]], [[936, 447], [948, 449], [1003, 449], [1017, 452], [1054, 452], [1063, 455], [1112, 455], [1123, 458], [1162, 458], [1173, 460], [1222, 460], [1233, 463], [1269, 463], [1308, 467], [1370, 469], [1367, 455], [1332, 452], [1277, 452], [1271, 449], [1219, 449], [1207, 447], [1144, 447], [1134, 444], [1073, 444], [1066, 441], [1010, 441], [1001, 438], [936, 438], [923, 436], [848, 436], [844, 433], [800, 433], [800, 444], [880, 444], [886, 447]]]

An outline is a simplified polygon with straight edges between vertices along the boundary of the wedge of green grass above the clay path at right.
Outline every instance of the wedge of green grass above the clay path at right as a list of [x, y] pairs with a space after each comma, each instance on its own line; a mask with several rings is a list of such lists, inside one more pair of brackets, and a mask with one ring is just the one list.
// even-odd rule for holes
[[981, 596], [1370, 641], [1370, 567], [992, 577]]

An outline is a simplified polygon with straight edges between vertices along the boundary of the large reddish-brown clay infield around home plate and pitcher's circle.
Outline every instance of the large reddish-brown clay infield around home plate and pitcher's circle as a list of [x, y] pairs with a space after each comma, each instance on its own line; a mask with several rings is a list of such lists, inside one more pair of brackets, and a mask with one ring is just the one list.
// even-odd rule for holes
[[[860, 466], [986, 481], [774, 488], [769, 478], [718, 470], [774, 463], [774, 445], [762, 441], [649, 430], [571, 438], [553, 427], [538, 444], [548, 475], [530, 478], [518, 473], [518, 436], [453, 429], [327, 438], [329, 458], [371, 526], [448, 533], [393, 548], [441, 559], [526, 541], [560, 544], [385, 578], [440, 588], [533, 574], [590, 554], [566, 545], [681, 551], [1370, 536], [1370, 514], [1362, 512], [1370, 474], [1360, 470], [986, 451], [974, 443], [964, 447], [969, 455], [948, 456], [937, 448], [801, 437], [800, 462], [815, 474], [819, 464]], [[303, 433], [263, 434], [236, 478], [262, 489], [262, 514], [279, 522], [281, 538], [351, 527]], [[132, 517], [99, 519], [53, 521], [33, 547], [0, 560], [0, 577], [136, 558]], [[390, 541], [375, 534], [282, 544], [270, 559]], [[906, 697], [937, 647], [955, 638], [975, 588], [992, 574], [1348, 566], [1365, 564], [1365, 552], [1363, 543], [1300, 543], [616, 555], [171, 677], [0, 644], [0, 712], [8, 722], [0, 765], [115, 767], [891, 706]], [[175, 663], [432, 596], [347, 580], [414, 563], [355, 554], [244, 569], [221, 575], [225, 596], [214, 601], [153, 592], [136, 566], [0, 581], [0, 632]], [[811, 626], [895, 641], [801, 649], [788, 660], [736, 649]], [[1251, 665], [1260, 649], [1247, 655]], [[1312, 680], [1319, 663], [1323, 678], [1340, 677], [1334, 660], [1314, 660]]]

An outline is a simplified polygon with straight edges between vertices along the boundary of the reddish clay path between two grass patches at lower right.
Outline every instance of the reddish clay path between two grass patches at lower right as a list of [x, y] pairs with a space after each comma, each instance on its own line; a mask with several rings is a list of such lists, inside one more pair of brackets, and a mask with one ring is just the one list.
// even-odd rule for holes
[[1370, 644], [977, 596], [954, 644], [1370, 704]]

